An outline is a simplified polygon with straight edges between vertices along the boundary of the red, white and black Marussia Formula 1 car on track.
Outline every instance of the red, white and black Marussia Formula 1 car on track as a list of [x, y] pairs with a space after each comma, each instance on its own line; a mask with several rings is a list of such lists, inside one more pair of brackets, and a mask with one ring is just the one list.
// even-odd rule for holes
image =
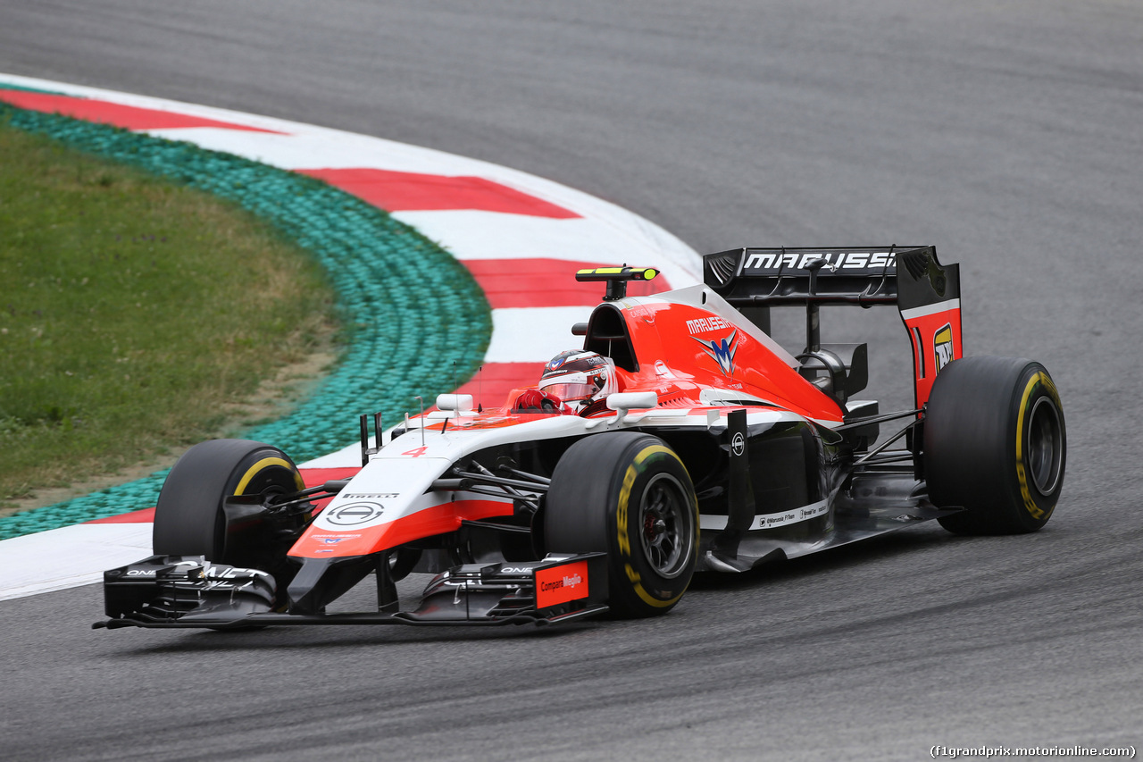
[[[543, 380], [496, 408], [441, 395], [383, 446], [379, 416], [370, 436], [362, 415], [360, 470], [310, 489], [271, 445], [191, 447], [159, 497], [154, 555], [105, 573], [96, 627], [645, 617], [696, 571], [928, 519], [978, 534], [1052, 516], [1066, 444], [1056, 387], [1034, 362], [961, 357], [958, 268], [933, 247], [743, 248], [703, 269], [703, 285], [641, 297], [628, 283], [655, 270], [577, 273], [607, 293], [573, 327], [583, 350], [544, 373], [588, 358], [577, 410], [576, 384]], [[806, 310], [797, 357], [767, 333], [770, 309], [791, 304]], [[866, 344], [822, 343], [831, 304], [897, 307], [912, 408], [854, 398]], [[433, 577], [402, 610], [395, 581], [413, 571]], [[375, 610], [327, 611], [370, 574]]]

